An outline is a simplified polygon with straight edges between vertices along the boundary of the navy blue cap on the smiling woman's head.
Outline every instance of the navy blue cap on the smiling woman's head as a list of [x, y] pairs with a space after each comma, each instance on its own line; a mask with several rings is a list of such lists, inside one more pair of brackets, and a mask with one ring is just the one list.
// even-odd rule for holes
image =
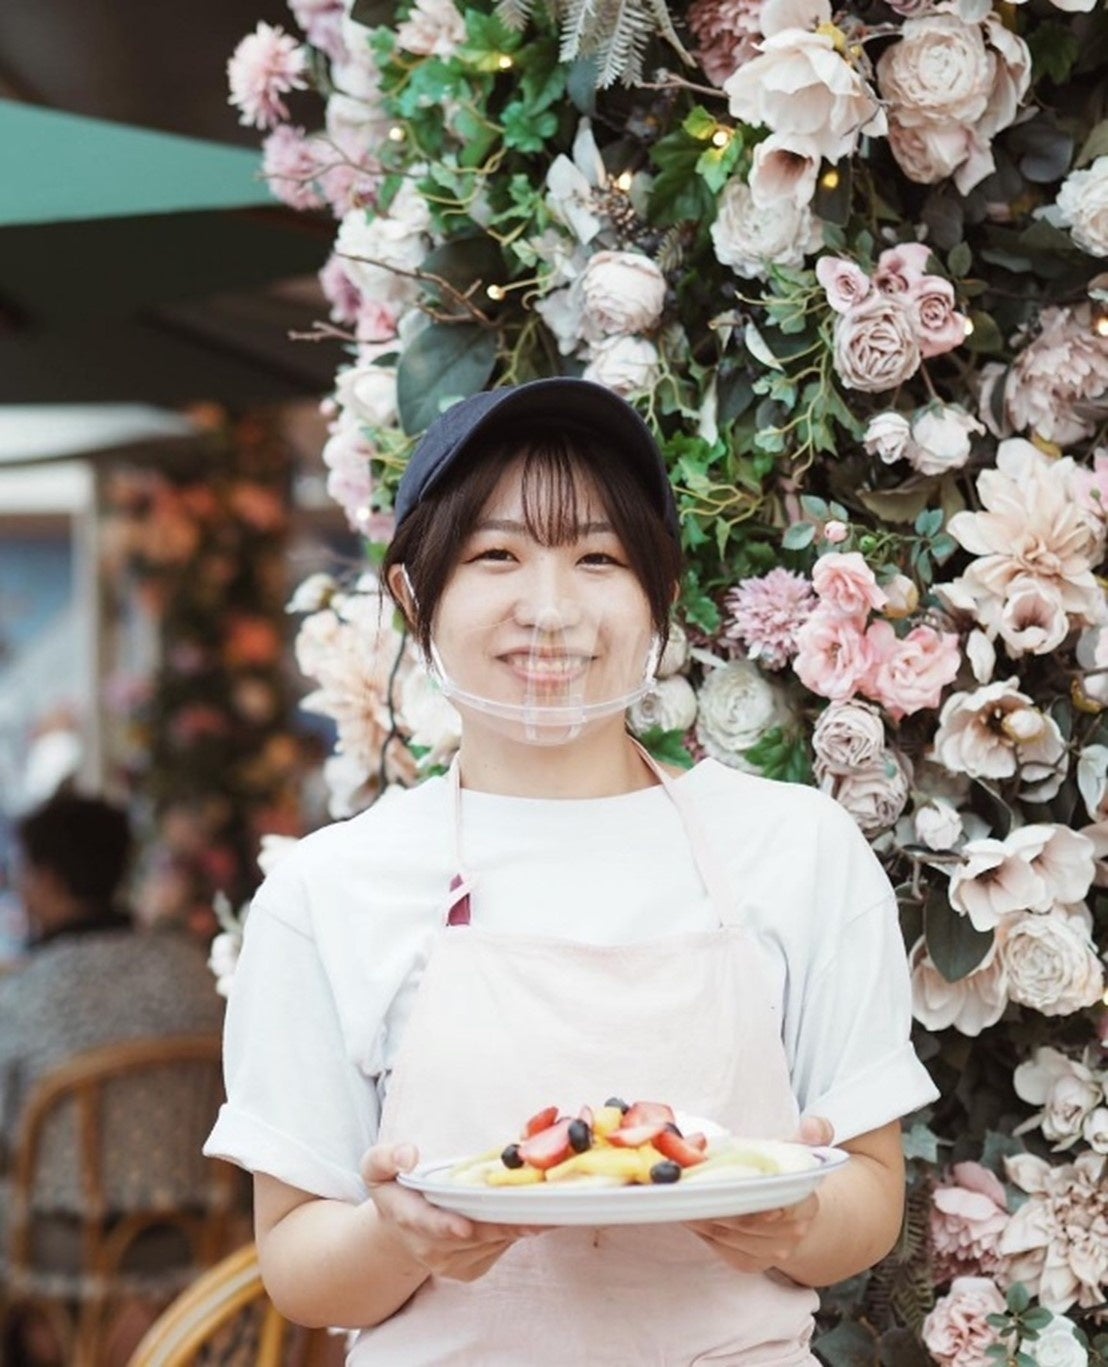
[[499, 427], [505, 418], [533, 422], [536, 432], [571, 422], [609, 442], [638, 469], [667, 530], [675, 541], [680, 541], [674, 489], [650, 429], [613, 390], [570, 376], [485, 390], [447, 409], [426, 429], [400, 476], [393, 504], [396, 525], [489, 428]]

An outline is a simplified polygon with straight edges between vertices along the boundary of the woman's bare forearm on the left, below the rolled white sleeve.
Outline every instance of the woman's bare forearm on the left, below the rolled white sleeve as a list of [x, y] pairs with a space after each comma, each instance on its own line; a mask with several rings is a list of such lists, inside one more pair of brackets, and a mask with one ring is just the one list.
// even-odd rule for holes
[[303, 1202], [266, 1230], [258, 1248], [271, 1300], [309, 1327], [378, 1325], [428, 1278], [369, 1200]]

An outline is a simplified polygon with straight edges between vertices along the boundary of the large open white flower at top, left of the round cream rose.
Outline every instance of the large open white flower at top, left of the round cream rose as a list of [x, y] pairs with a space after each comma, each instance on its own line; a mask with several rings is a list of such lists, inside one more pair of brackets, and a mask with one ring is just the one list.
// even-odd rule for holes
[[861, 135], [880, 135], [885, 118], [876, 94], [827, 31], [787, 27], [766, 37], [760, 56], [724, 82], [731, 113], [771, 133], [803, 134], [820, 157], [851, 156]]

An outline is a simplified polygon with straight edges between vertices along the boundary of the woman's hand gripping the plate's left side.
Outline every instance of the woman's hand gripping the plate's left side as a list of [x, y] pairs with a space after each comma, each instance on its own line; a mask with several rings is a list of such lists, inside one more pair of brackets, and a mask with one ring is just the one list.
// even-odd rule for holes
[[362, 1178], [381, 1221], [421, 1267], [434, 1277], [477, 1281], [518, 1239], [541, 1233], [522, 1225], [485, 1225], [439, 1210], [396, 1181], [419, 1155], [411, 1144], [376, 1144], [362, 1159]]

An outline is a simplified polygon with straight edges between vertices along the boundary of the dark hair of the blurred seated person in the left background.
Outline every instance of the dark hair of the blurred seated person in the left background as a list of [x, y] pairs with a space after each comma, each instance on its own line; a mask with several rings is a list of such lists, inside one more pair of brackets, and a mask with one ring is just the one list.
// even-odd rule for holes
[[111, 905], [131, 854], [126, 812], [97, 797], [55, 797], [16, 834], [29, 864], [56, 874], [81, 901]]

